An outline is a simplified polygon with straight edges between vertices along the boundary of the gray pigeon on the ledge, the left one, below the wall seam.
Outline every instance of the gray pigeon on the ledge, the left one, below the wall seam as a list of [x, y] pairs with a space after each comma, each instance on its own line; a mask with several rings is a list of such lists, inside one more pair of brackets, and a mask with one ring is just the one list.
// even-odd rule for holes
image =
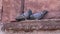
[[30, 15], [32, 15], [32, 10], [28, 10], [25, 13], [22, 13], [16, 17], [17, 21], [25, 20], [25, 19], [30, 19]]

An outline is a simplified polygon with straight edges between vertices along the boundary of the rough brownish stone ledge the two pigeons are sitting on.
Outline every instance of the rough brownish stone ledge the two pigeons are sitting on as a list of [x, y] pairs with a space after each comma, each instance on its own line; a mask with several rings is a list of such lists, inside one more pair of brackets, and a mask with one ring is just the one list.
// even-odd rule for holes
[[3, 24], [2, 30], [33, 31], [33, 30], [60, 30], [60, 19], [27, 20]]

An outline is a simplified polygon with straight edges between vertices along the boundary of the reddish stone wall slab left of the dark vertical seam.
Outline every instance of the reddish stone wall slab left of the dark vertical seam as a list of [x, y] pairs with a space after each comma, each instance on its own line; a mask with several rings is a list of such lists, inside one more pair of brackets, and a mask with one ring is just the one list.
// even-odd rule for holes
[[20, 0], [3, 0], [3, 21], [13, 21], [20, 13]]

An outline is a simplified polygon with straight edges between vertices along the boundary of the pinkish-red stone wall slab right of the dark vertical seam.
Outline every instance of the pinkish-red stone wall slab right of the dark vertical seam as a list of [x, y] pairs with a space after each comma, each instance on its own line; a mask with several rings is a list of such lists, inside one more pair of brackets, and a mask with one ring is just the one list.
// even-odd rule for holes
[[33, 13], [48, 10], [45, 19], [60, 18], [60, 0], [26, 0], [25, 10], [32, 9]]

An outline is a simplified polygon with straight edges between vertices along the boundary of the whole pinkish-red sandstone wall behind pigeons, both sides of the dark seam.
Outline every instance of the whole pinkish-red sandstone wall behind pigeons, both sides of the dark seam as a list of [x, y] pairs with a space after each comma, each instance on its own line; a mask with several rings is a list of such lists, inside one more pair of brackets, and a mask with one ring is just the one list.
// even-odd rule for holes
[[[3, 21], [14, 20], [20, 11], [21, 0], [3, 0]], [[25, 0], [25, 11], [31, 9], [33, 13], [48, 10], [44, 18], [60, 18], [60, 0]]]

